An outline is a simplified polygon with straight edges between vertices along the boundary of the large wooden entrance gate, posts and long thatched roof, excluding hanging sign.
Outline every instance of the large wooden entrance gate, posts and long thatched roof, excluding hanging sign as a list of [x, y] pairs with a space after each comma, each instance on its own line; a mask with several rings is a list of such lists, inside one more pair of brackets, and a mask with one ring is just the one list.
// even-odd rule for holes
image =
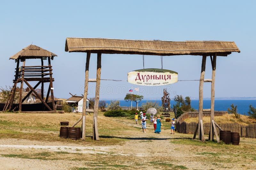
[[[215, 72], [217, 56], [228, 56], [232, 52], [240, 53], [240, 50], [233, 41], [159, 41], [159, 40], [126, 40], [126, 39], [101, 39], [101, 38], [67, 38], [65, 51], [84, 52], [86, 56], [85, 83], [84, 83], [84, 103], [82, 123], [82, 139], [85, 138], [85, 112], [93, 112], [92, 134], [94, 140], [99, 140], [97, 128], [97, 114], [100, 91], [101, 54], [141, 54], [141, 55], [198, 55], [202, 56], [202, 68], [199, 82], [199, 117], [194, 138], [198, 132], [199, 140], [204, 141], [203, 129], [203, 83], [211, 82], [211, 131], [209, 139], [213, 140], [213, 133], [216, 130], [214, 122], [214, 94], [215, 94]], [[97, 53], [97, 77], [94, 110], [86, 108], [86, 98], [88, 92], [89, 61], [91, 53]], [[210, 56], [212, 61], [212, 79], [204, 79], [206, 57]], [[95, 79], [92, 79], [95, 80]], [[78, 120], [79, 122], [79, 120]], [[215, 129], [214, 129], [215, 128]], [[218, 135], [215, 133], [217, 139]]]

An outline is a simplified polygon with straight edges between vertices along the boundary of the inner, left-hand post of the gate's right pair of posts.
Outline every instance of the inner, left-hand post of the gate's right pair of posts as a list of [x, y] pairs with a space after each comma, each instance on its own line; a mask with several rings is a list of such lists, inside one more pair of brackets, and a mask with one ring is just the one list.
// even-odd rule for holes
[[202, 140], [202, 131], [204, 131], [200, 126], [200, 121], [203, 118], [203, 87], [204, 87], [204, 72], [205, 72], [205, 62], [206, 62], [206, 56], [203, 56], [202, 58], [202, 67], [201, 67], [201, 76], [200, 76], [200, 82], [199, 82], [199, 110], [198, 110], [198, 139]]

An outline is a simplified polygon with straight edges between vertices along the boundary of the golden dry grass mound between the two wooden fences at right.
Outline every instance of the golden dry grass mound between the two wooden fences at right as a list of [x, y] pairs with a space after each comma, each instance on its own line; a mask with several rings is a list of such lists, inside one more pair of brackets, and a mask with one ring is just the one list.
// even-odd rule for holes
[[[248, 116], [244, 116], [244, 115], [240, 115], [240, 118], [237, 119], [237, 118], [235, 118], [234, 114], [225, 114], [223, 116], [215, 116], [214, 121], [217, 124], [238, 123], [238, 124], [242, 124], [242, 125], [248, 125], [248, 124], [256, 123], [255, 119], [251, 119]], [[187, 119], [185, 119], [185, 122], [187, 122], [187, 123], [198, 122], [198, 117], [187, 118]], [[203, 117], [203, 122], [210, 123], [211, 117]]]

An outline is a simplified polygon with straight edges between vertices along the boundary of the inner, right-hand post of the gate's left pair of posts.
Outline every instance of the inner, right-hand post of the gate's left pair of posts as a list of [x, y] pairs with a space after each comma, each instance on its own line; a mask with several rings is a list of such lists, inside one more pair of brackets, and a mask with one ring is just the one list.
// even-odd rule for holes
[[99, 140], [97, 117], [98, 117], [98, 108], [99, 108], [99, 99], [100, 99], [100, 72], [101, 72], [101, 53], [97, 53], [97, 76], [96, 76], [95, 103], [94, 103], [93, 124], [92, 124], [93, 140]]

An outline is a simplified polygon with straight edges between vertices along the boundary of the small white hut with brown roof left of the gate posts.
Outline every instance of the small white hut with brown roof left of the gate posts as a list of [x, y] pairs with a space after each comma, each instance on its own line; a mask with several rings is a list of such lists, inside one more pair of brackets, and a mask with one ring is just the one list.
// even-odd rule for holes
[[[83, 112], [83, 99], [84, 96], [72, 96], [65, 101], [69, 106], [72, 107], [72, 112]], [[86, 109], [89, 108], [89, 100], [86, 99]]]

